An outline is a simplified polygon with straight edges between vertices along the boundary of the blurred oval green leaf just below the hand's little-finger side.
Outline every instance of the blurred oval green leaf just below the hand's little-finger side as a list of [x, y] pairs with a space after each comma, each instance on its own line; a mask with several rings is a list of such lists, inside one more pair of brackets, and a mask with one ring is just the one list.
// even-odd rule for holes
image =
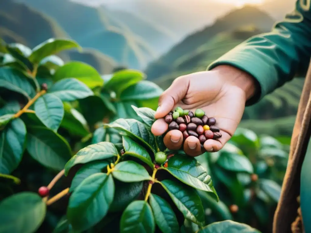
[[254, 172], [253, 165], [246, 156], [227, 151], [220, 152], [220, 157], [217, 160], [220, 167], [229, 171]]

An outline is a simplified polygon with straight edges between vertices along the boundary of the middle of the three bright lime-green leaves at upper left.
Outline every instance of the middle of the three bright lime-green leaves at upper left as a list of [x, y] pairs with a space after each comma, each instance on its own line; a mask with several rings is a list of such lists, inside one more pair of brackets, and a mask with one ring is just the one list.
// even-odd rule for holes
[[58, 68], [53, 79], [58, 81], [65, 78], [75, 78], [91, 89], [104, 84], [104, 80], [95, 68], [83, 62], [68, 62]]

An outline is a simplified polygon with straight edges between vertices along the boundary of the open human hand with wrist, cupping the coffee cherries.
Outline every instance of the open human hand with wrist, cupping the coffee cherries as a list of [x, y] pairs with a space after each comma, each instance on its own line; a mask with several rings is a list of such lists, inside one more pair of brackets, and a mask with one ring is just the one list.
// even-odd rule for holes
[[[208, 139], [204, 149], [208, 152], [219, 151], [234, 134], [241, 121], [245, 102], [255, 92], [254, 79], [251, 75], [233, 66], [221, 65], [211, 71], [202, 71], [180, 76], [165, 90], [159, 98], [156, 111], [157, 119], [151, 132], [160, 136], [168, 130], [165, 117], [175, 107], [190, 111], [201, 108], [208, 117], [216, 118], [222, 137]], [[164, 144], [170, 150], [177, 150], [183, 144], [183, 134], [179, 130], [170, 130], [164, 137]], [[200, 141], [189, 136], [183, 150], [190, 156], [204, 153]]]

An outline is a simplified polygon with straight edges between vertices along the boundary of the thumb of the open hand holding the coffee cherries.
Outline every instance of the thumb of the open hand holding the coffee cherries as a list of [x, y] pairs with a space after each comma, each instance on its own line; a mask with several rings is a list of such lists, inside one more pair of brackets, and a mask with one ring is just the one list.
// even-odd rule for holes
[[187, 76], [180, 76], [175, 79], [170, 87], [160, 95], [155, 118], [165, 117], [172, 111], [173, 107], [185, 97], [188, 87], [189, 79]]

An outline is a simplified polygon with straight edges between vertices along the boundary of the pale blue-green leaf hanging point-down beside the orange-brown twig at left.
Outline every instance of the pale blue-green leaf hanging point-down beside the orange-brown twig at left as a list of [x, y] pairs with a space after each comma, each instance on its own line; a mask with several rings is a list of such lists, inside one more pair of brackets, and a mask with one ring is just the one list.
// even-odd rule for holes
[[35, 114], [46, 127], [57, 132], [64, 117], [63, 102], [55, 95], [45, 94], [35, 102]]

